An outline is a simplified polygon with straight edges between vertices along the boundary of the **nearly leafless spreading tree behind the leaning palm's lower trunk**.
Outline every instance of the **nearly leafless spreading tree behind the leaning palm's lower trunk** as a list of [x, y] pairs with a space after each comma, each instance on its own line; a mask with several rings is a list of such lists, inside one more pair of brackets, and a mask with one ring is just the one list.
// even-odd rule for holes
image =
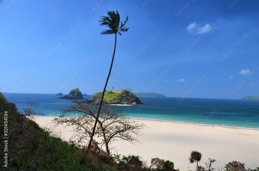
[[[72, 125], [76, 132], [75, 136], [78, 137], [78, 143], [82, 144], [85, 141], [89, 141], [91, 137], [98, 108], [99, 106], [95, 104], [76, 101], [75, 105], [70, 105], [66, 109], [62, 109], [61, 115], [54, 122], [56, 122], [56, 125]], [[105, 146], [107, 156], [110, 156], [109, 144], [113, 141], [124, 139], [132, 144], [140, 142], [136, 136], [142, 135], [141, 130], [146, 126], [144, 123], [137, 123], [127, 116], [128, 114], [114, 108], [107, 106], [101, 108], [99, 117], [97, 118], [98, 126], [94, 135], [102, 138], [102, 141], [97, 145], [100, 145], [100, 149], [102, 146]]]

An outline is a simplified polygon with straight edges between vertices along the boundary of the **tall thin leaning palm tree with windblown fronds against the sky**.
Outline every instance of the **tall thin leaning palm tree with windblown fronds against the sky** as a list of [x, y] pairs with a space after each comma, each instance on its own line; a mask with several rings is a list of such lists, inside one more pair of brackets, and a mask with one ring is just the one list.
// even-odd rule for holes
[[100, 110], [101, 110], [102, 103], [103, 103], [103, 97], [104, 97], [105, 89], [106, 89], [106, 86], [107, 86], [107, 83], [108, 83], [108, 80], [109, 80], [109, 77], [110, 77], [110, 74], [111, 74], [112, 64], [113, 64], [113, 59], [114, 59], [115, 49], [116, 49], [116, 43], [117, 43], [117, 33], [119, 35], [121, 35], [120, 32], [127, 32], [128, 29], [129, 29], [129, 28], [125, 27], [126, 22], [128, 21], [128, 15], [126, 16], [126, 19], [123, 22], [120, 22], [120, 14], [118, 13], [117, 10], [116, 10], [116, 12], [107, 11], [107, 15], [108, 15], [108, 17], [106, 17], [106, 16], [100, 17], [100, 20], [98, 22], [100, 22], [100, 26], [106, 26], [109, 29], [103, 30], [100, 34], [115, 34], [114, 50], [113, 50], [113, 55], [112, 55], [112, 62], [111, 62], [110, 71], [109, 71], [109, 74], [107, 76], [107, 80], [106, 80], [106, 83], [105, 83], [105, 86], [104, 86], [104, 89], [103, 89], [103, 95], [102, 95], [100, 105], [99, 105], [99, 108], [98, 108], [98, 112], [97, 112], [97, 115], [96, 115], [95, 125], [93, 126], [92, 135], [91, 135], [88, 147], [87, 147], [87, 151], [86, 151], [87, 153], [88, 153], [88, 151], [90, 149], [90, 145], [92, 143], [93, 134], [95, 132], [95, 128], [96, 128], [96, 124], [97, 124], [97, 119], [99, 117]]

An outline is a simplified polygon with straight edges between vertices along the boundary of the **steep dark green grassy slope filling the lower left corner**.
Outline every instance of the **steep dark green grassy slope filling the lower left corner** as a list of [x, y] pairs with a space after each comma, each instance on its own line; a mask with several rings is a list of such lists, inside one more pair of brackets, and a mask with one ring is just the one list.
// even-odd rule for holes
[[[6, 122], [1, 119], [0, 141], [8, 137], [8, 147], [7, 151], [0, 151], [0, 170], [116, 170], [60, 137], [50, 136], [48, 129], [18, 113], [15, 104], [7, 102], [0, 93], [1, 118], [6, 116], [4, 111], [7, 111], [8, 136], [2, 135]], [[0, 148], [4, 149], [4, 143]], [[8, 153], [8, 167], [4, 166], [4, 153]]]

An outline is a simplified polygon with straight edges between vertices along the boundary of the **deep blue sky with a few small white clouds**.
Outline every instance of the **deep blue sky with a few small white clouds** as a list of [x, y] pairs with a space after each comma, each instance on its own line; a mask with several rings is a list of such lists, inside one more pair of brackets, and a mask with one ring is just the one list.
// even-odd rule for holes
[[100, 16], [128, 15], [106, 90], [167, 97], [258, 96], [259, 1], [1, 1], [2, 92], [102, 91], [114, 36]]

